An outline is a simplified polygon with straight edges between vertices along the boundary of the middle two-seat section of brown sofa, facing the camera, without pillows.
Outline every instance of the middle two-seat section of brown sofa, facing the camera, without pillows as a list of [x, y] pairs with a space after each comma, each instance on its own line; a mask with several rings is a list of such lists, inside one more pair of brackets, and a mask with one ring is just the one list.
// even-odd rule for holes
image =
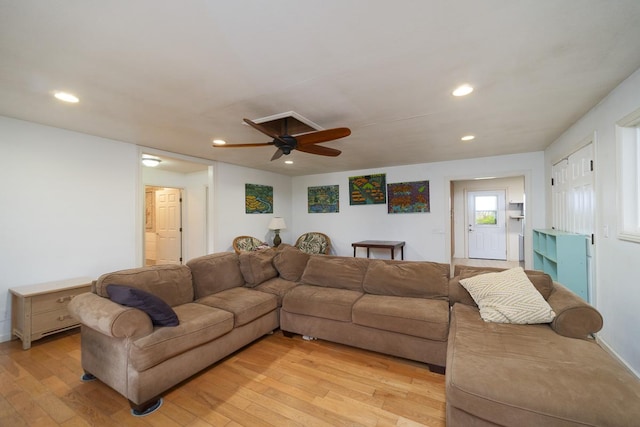
[[444, 367], [449, 265], [314, 256], [280, 328]]

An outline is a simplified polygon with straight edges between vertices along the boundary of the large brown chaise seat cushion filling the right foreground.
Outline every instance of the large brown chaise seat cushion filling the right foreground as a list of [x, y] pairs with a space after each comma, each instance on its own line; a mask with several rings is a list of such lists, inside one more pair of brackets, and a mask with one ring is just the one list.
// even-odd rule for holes
[[477, 308], [455, 304], [446, 401], [482, 425], [633, 426], [640, 381], [593, 340], [546, 324], [484, 322]]

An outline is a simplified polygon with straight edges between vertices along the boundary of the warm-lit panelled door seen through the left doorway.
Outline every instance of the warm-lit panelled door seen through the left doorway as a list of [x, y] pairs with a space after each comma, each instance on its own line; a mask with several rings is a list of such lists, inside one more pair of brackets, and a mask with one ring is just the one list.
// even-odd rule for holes
[[156, 191], [156, 253], [158, 264], [182, 263], [182, 197], [178, 188]]

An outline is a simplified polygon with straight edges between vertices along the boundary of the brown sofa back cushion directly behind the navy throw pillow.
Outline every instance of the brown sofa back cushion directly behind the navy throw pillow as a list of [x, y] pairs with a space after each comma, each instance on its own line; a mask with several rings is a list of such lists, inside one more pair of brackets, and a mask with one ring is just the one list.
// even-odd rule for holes
[[156, 295], [171, 307], [192, 302], [191, 270], [185, 265], [163, 264], [103, 274], [96, 280], [96, 294], [109, 298], [108, 285], [125, 285]]

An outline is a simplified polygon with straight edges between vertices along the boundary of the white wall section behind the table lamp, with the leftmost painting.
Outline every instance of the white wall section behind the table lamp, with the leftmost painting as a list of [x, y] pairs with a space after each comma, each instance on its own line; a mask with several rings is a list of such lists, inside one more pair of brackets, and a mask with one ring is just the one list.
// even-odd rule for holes
[[[232, 251], [231, 244], [236, 236], [253, 236], [270, 245], [273, 244], [273, 232], [269, 231], [268, 226], [274, 216], [284, 218], [287, 229], [280, 232], [280, 237], [284, 243], [291, 242], [291, 177], [228, 163], [217, 163], [213, 180], [214, 252]], [[245, 184], [273, 187], [273, 214], [245, 212]]]

